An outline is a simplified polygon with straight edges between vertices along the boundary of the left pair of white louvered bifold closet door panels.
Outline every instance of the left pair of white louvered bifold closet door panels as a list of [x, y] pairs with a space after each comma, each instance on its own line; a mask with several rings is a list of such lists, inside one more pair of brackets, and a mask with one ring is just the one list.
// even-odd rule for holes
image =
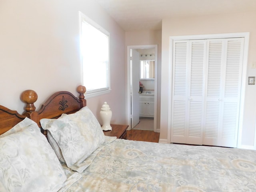
[[174, 42], [171, 141], [202, 144], [206, 41]]

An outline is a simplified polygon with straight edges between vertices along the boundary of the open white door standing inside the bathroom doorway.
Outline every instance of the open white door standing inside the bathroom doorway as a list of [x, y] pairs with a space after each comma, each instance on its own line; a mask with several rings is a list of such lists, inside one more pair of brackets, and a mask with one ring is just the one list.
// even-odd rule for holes
[[131, 121], [132, 128], [140, 122], [140, 106], [139, 106], [139, 82], [140, 82], [140, 54], [137, 50], [132, 49], [131, 64]]

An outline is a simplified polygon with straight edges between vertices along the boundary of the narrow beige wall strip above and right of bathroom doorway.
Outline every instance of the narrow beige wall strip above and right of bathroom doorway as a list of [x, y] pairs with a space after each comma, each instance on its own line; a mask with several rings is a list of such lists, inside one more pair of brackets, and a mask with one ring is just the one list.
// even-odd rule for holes
[[127, 46], [133, 46], [133, 45], [158, 45], [157, 129], [160, 129], [162, 31], [161, 30], [128, 31], [126, 32], [125, 38], [126, 38], [126, 48]]

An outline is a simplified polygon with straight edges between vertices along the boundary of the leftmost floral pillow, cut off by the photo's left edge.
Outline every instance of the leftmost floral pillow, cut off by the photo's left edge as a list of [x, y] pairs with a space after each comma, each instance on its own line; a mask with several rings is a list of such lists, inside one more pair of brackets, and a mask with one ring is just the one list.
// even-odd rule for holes
[[25, 118], [0, 135], [0, 191], [57, 192], [64, 170], [38, 125]]

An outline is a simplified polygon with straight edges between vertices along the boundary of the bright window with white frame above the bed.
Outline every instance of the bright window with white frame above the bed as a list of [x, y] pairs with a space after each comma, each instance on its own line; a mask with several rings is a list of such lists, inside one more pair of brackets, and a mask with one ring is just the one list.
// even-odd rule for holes
[[86, 94], [110, 91], [109, 33], [80, 12], [82, 77]]

